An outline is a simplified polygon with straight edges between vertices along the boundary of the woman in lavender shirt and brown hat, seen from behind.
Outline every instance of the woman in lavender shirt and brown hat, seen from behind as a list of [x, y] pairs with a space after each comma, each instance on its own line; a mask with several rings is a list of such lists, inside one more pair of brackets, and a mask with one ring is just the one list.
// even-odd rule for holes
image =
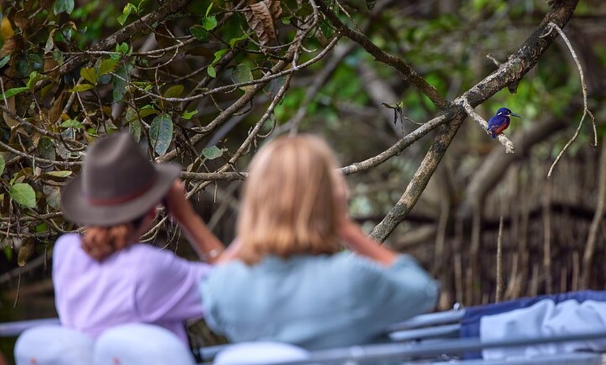
[[[197, 284], [224, 246], [185, 199], [179, 173], [177, 164], [152, 164], [126, 132], [88, 148], [81, 174], [61, 194], [65, 218], [85, 227], [54, 244], [62, 325], [98, 336], [123, 323], [152, 323], [187, 343], [183, 321], [203, 314]], [[137, 243], [162, 201], [205, 262]]]

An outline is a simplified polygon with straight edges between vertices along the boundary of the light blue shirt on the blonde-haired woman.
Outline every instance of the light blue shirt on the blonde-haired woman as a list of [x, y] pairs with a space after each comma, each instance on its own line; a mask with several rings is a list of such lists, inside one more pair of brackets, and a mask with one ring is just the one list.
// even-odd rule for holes
[[201, 282], [205, 319], [230, 341], [281, 341], [318, 350], [376, 341], [433, 309], [439, 286], [417, 261], [390, 267], [343, 252], [231, 261]]

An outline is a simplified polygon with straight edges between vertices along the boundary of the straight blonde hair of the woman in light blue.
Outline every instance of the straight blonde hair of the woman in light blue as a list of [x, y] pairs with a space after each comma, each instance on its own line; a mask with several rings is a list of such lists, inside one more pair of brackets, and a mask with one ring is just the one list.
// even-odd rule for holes
[[238, 217], [238, 256], [252, 265], [273, 254], [339, 250], [336, 158], [311, 135], [279, 137], [255, 155]]

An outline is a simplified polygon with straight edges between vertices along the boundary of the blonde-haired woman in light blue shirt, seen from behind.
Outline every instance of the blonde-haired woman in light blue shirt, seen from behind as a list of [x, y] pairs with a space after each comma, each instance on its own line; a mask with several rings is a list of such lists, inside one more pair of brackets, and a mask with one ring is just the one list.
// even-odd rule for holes
[[347, 216], [337, 166], [311, 135], [279, 137], [256, 154], [236, 259], [201, 282], [216, 332], [317, 350], [378, 341], [389, 324], [433, 309], [438, 285], [429, 274]]

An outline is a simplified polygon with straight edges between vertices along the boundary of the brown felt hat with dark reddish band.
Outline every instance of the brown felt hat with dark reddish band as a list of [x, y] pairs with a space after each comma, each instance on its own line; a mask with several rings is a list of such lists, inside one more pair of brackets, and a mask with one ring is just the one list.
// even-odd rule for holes
[[88, 148], [80, 175], [61, 192], [61, 210], [81, 225], [131, 222], [160, 203], [180, 171], [152, 164], [130, 133], [110, 134]]

